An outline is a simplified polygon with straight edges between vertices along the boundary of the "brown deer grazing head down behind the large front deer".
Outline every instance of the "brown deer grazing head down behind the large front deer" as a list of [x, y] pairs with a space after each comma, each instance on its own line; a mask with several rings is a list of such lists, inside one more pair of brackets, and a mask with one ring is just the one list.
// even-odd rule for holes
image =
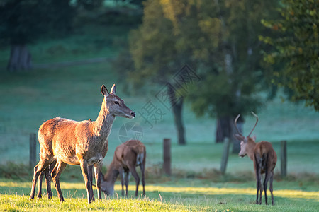
[[101, 189], [106, 195], [113, 195], [114, 184], [118, 175], [121, 175], [122, 196], [124, 196], [124, 184], [126, 187], [126, 196], [128, 196], [128, 182], [130, 174], [133, 175], [136, 182], [135, 196], [138, 196], [138, 185], [140, 177], [135, 167], [140, 166], [142, 172], [143, 196], [145, 196], [145, 159], [146, 148], [138, 140], [130, 140], [116, 147], [113, 160], [108, 167], [106, 175], [102, 175]]

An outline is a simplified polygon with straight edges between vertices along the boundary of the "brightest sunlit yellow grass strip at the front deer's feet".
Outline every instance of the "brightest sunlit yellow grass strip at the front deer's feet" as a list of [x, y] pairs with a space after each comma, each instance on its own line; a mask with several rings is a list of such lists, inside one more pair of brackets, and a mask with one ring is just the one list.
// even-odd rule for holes
[[28, 196], [0, 195], [1, 211], [187, 211], [181, 204], [169, 204], [153, 199], [107, 199], [94, 201], [91, 204], [86, 199], [66, 199], [60, 204], [56, 197], [51, 200], [35, 199], [29, 201]]

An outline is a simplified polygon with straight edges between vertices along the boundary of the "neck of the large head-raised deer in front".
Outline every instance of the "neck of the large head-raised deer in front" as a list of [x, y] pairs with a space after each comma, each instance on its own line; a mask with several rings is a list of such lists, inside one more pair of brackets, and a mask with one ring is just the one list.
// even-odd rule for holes
[[114, 119], [115, 116], [108, 112], [108, 108], [106, 107], [106, 98], [104, 98], [99, 116], [95, 121], [94, 134], [96, 134], [96, 136], [100, 136], [101, 139], [105, 141], [111, 132]]

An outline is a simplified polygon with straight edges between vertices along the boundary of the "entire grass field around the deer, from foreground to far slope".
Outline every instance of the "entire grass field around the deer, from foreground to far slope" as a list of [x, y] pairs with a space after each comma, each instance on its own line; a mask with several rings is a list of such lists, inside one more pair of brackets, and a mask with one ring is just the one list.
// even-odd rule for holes
[[[78, 32], [73, 37], [45, 45], [31, 45], [30, 49], [38, 64], [113, 57], [127, 31], [113, 27], [100, 34], [95, 31], [95, 35], [94, 31], [88, 30], [90, 35]], [[284, 179], [279, 176], [279, 161], [274, 180], [276, 205], [256, 206], [255, 179], [249, 158], [230, 155], [226, 175], [218, 172], [223, 144], [213, 141], [215, 119], [195, 117], [186, 103], [187, 145], [178, 146], [172, 112], [155, 98], [160, 88], [145, 88], [152, 91], [127, 95], [121, 76], [108, 62], [7, 73], [4, 66], [8, 57], [9, 49], [1, 49], [0, 211], [52, 211], [52, 208], [55, 208], [53, 211], [318, 211], [319, 113], [303, 107], [302, 103], [282, 102], [277, 97], [264, 102], [264, 107], [257, 112], [259, 124], [254, 134], [258, 141], [271, 141], [278, 155], [279, 141], [288, 141], [289, 176]], [[27, 165], [30, 133], [36, 133], [40, 124], [52, 117], [95, 120], [103, 100], [101, 85], [111, 88], [113, 83], [116, 83], [117, 94], [137, 114], [149, 100], [164, 112], [162, 120], [153, 127], [138, 115], [133, 120], [118, 117], [108, 138], [103, 172], [111, 163], [116, 146], [121, 143], [121, 126], [128, 122], [141, 126], [142, 142], [147, 148], [147, 196], [138, 199], [105, 197], [101, 203], [87, 204], [80, 168], [67, 166], [61, 176], [64, 204], [59, 203], [55, 190], [52, 200], [28, 201], [33, 174]], [[247, 133], [255, 120], [249, 116], [245, 120], [244, 131]], [[172, 177], [161, 175], [164, 138], [172, 139]], [[130, 195], [134, 187], [134, 182], [130, 182]], [[117, 183], [118, 194], [120, 189]]]

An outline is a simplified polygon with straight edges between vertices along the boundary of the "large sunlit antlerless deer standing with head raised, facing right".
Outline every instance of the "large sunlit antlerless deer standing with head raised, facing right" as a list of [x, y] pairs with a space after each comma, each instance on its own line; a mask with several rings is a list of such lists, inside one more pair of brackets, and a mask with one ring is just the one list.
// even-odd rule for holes
[[[90, 180], [90, 171], [94, 165], [98, 198], [101, 201], [101, 167], [108, 151], [108, 135], [116, 116], [134, 118], [130, 110], [116, 93], [113, 85], [111, 93], [103, 85], [104, 96], [99, 116], [95, 122], [76, 122], [60, 117], [50, 119], [40, 126], [38, 141], [40, 143], [40, 161], [34, 167], [30, 199], [34, 199], [35, 185], [43, 173], [46, 174], [47, 187], [50, 186], [50, 172], [60, 201], [64, 201], [60, 188], [60, 175], [67, 164], [80, 165], [89, 203], [94, 200]], [[39, 184], [40, 189], [40, 184]], [[50, 191], [48, 191], [50, 192]], [[48, 193], [49, 195], [49, 193]], [[39, 196], [39, 194], [38, 194]]]

